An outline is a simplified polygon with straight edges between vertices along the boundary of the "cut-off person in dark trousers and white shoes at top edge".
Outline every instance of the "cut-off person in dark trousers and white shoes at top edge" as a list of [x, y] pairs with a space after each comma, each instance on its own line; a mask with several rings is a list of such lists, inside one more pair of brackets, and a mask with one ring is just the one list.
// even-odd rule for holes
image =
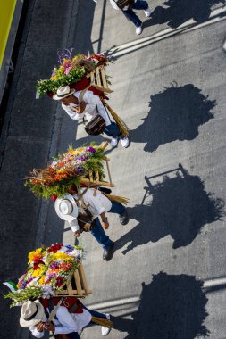
[[142, 33], [142, 21], [138, 18], [134, 10], [143, 10], [146, 17], [149, 18], [151, 16], [151, 10], [145, 0], [110, 0], [110, 3], [113, 9], [121, 10], [127, 19], [134, 23], [138, 35]]

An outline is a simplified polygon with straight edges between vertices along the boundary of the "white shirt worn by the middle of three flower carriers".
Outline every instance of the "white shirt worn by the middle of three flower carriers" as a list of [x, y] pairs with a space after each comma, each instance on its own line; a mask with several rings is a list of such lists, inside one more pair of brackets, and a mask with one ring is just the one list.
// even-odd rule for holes
[[[86, 188], [81, 188], [83, 192]], [[75, 199], [78, 199], [78, 195], [73, 195]], [[100, 191], [95, 188], [88, 188], [87, 192], [82, 195], [84, 203], [88, 206], [88, 211], [90, 211], [95, 218], [97, 218], [101, 213], [110, 211], [112, 208], [112, 202]], [[79, 200], [78, 207], [79, 212], [86, 214], [86, 212], [81, 207], [82, 202]], [[76, 232], [80, 229], [77, 219], [74, 219], [69, 222], [71, 230]]]

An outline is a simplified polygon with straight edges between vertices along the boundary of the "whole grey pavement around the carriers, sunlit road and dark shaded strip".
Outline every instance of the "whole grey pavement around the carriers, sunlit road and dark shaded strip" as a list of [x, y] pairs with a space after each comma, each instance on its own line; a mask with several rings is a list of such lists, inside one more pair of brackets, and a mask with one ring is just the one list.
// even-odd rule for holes
[[[113, 314], [117, 329], [109, 338], [223, 339], [225, 284], [216, 286], [214, 279], [226, 277], [226, 9], [216, 0], [150, 5], [154, 15], [145, 21], [139, 13], [145, 29], [137, 37], [106, 0], [30, 4], [4, 129], [1, 281], [21, 275], [35, 244], [74, 243], [54, 204], [35, 199], [22, 178], [67, 145], [91, 138], [57, 103], [35, 101], [36, 80], [48, 76], [56, 51], [65, 46], [111, 54], [113, 46], [117, 52], [130, 43], [136, 48], [115, 52], [109, 67], [110, 104], [130, 126], [130, 147], [119, 145], [108, 153], [113, 193], [130, 197], [130, 223], [121, 227], [109, 216], [107, 233], [116, 247], [110, 262], [102, 260], [91, 235], [81, 236], [93, 292], [85, 303]], [[172, 37], [140, 46], [143, 37], [167, 29], [174, 31]], [[1, 337], [27, 338], [28, 331], [18, 326], [19, 310], [8, 304], [1, 300]], [[99, 327], [81, 334], [100, 336]]]

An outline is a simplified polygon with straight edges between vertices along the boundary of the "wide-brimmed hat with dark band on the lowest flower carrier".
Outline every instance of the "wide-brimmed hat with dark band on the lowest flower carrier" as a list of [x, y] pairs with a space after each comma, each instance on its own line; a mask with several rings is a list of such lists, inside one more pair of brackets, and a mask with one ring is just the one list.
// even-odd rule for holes
[[21, 327], [36, 326], [45, 314], [44, 307], [41, 302], [24, 302], [21, 308]]

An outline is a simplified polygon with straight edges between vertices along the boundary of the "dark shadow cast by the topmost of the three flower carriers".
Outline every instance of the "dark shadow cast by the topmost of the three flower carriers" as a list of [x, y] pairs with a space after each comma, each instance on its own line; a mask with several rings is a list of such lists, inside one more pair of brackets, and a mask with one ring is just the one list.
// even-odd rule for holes
[[130, 130], [130, 140], [147, 143], [146, 152], [155, 151], [159, 145], [175, 140], [193, 140], [198, 127], [213, 119], [211, 110], [215, 101], [201, 93], [192, 84], [163, 87], [163, 91], [150, 98], [150, 111], [143, 124]]

